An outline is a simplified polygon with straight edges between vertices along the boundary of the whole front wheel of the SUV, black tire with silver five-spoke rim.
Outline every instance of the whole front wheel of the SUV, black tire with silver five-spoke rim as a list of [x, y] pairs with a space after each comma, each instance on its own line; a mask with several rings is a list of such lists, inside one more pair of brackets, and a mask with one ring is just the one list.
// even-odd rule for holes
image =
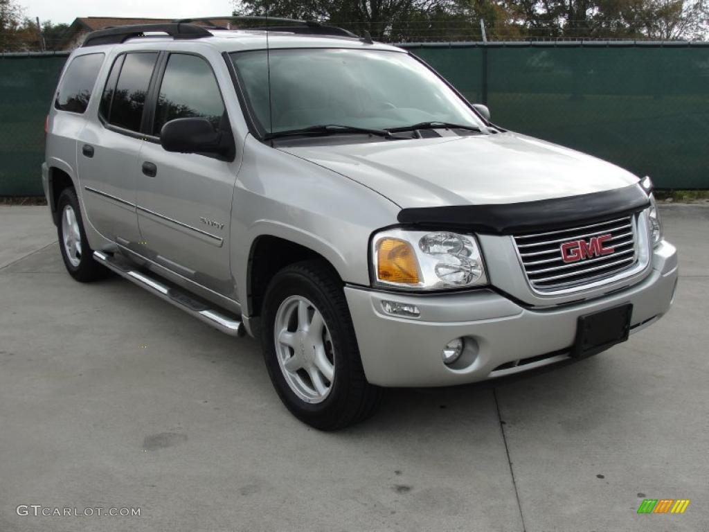
[[381, 389], [364, 377], [342, 282], [327, 265], [299, 262], [278, 272], [262, 323], [269, 375], [298, 419], [335, 430], [374, 413]]

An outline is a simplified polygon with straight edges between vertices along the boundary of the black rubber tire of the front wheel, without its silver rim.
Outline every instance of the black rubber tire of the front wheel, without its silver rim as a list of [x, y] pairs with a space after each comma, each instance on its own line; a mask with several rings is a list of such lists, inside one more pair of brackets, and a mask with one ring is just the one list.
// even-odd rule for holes
[[[291, 389], [279, 365], [274, 326], [281, 303], [291, 296], [305, 297], [317, 307], [330, 331], [335, 376], [327, 397], [311, 404]], [[269, 376], [286, 408], [296, 418], [322, 431], [345, 428], [372, 416], [382, 389], [367, 382], [342, 282], [320, 261], [298, 262], [278, 272], [270, 282], [262, 308], [261, 343]]]

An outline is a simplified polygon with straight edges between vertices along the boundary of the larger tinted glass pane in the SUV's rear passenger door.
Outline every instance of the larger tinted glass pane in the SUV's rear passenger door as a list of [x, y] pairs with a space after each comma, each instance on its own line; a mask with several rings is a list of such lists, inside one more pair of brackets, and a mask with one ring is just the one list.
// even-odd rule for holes
[[150, 84], [155, 60], [157, 53], [152, 52], [125, 55], [113, 93], [111, 114], [106, 116], [109, 123], [130, 131], [140, 131], [147, 86]]

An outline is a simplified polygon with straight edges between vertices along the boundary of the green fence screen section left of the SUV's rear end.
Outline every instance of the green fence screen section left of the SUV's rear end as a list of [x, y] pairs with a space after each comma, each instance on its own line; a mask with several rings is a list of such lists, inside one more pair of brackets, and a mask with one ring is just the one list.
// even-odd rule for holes
[[66, 57], [0, 57], [0, 196], [40, 196], [44, 123]]

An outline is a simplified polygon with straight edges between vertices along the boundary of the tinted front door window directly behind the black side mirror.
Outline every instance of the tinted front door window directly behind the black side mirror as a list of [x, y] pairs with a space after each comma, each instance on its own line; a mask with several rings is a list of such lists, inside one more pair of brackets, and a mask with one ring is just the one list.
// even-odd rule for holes
[[224, 103], [208, 62], [195, 55], [170, 55], [157, 99], [153, 134], [160, 135], [162, 126], [175, 118], [207, 118], [218, 128], [223, 114]]

